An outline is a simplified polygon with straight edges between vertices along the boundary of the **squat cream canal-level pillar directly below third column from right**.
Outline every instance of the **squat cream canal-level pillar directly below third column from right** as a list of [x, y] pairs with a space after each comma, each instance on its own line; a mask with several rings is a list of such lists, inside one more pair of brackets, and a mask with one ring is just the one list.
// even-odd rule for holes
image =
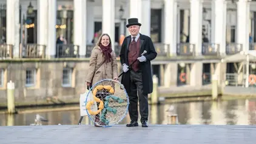
[[195, 87], [203, 85], [203, 62], [191, 64], [190, 85]]

